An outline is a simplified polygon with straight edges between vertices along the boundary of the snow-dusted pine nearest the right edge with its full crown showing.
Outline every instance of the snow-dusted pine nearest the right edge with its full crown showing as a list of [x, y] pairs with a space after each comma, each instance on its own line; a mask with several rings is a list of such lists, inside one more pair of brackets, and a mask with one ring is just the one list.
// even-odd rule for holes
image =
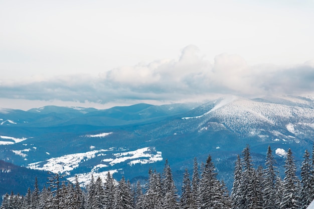
[[300, 193], [300, 208], [306, 208], [307, 205], [313, 200], [313, 188], [312, 188], [312, 182], [311, 180], [313, 179], [312, 176], [312, 170], [313, 167], [311, 165], [311, 160], [310, 160], [310, 154], [305, 150], [305, 153], [303, 155], [304, 160], [302, 161], [302, 166], [301, 166], [301, 184], [302, 184], [302, 189]]

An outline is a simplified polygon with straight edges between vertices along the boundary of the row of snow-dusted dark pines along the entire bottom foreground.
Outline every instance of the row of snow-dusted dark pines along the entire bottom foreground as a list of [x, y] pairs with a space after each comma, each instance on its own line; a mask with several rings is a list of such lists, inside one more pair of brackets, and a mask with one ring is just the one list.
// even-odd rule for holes
[[40, 191], [35, 180], [34, 190], [29, 188], [24, 196], [6, 194], [1, 208], [306, 208], [314, 198], [314, 157], [311, 159], [305, 150], [303, 158], [299, 179], [294, 157], [288, 149], [285, 175], [281, 179], [270, 146], [264, 168], [254, 168], [246, 146], [235, 162], [230, 195], [225, 183], [217, 179], [210, 155], [200, 166], [195, 158], [192, 176], [185, 170], [180, 196], [168, 160], [162, 173], [149, 170], [148, 182], [143, 186], [139, 181], [133, 185], [124, 177], [115, 181], [108, 172], [105, 182], [92, 176], [83, 190], [77, 178], [73, 184], [53, 174], [48, 188]]

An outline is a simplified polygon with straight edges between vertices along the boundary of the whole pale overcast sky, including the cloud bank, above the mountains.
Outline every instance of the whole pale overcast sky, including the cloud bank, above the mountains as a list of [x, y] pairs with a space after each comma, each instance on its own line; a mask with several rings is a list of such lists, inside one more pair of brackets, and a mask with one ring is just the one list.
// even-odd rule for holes
[[0, 107], [314, 95], [313, 0], [0, 0]]

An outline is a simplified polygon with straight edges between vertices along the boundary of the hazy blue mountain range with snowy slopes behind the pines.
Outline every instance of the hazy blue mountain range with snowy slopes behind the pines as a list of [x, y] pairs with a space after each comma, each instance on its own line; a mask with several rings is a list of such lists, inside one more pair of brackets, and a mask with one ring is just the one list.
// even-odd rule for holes
[[[0, 159], [30, 168], [79, 176], [81, 183], [108, 170], [120, 179], [161, 171], [168, 158], [176, 181], [194, 157], [213, 156], [229, 187], [234, 160], [250, 144], [255, 165], [270, 144], [278, 164], [291, 147], [298, 163], [314, 140], [311, 97], [226, 96], [205, 104], [135, 104], [109, 109], [45, 106], [0, 108]], [[230, 188], [231, 189], [231, 188]]]

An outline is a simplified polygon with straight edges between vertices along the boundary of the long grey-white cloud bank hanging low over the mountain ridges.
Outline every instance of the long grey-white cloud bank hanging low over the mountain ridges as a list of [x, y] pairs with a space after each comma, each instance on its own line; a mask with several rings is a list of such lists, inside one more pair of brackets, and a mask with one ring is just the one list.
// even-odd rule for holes
[[91, 76], [32, 76], [0, 80], [0, 97], [107, 103], [121, 100], [176, 102], [211, 94], [255, 96], [311, 94], [314, 60], [294, 66], [248, 65], [237, 54], [219, 54], [211, 63], [188, 45], [177, 59], [123, 66]]

